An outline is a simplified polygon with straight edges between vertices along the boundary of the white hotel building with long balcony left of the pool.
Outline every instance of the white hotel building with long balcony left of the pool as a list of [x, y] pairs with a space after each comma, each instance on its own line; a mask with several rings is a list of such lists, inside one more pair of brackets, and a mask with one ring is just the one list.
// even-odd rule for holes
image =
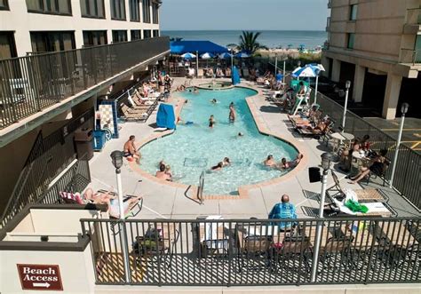
[[[33, 160], [54, 179], [76, 157], [73, 132], [93, 128], [100, 96], [139, 81], [169, 53], [160, 0], [0, 0], [0, 211]], [[121, 87], [120, 87], [121, 85]], [[44, 141], [55, 136], [52, 143]], [[57, 141], [60, 144], [55, 144]], [[37, 143], [38, 142], [38, 143]], [[32, 157], [28, 158], [28, 155]], [[27, 173], [25, 173], [27, 172]], [[40, 178], [43, 178], [40, 175]], [[29, 185], [36, 189], [41, 184]]]

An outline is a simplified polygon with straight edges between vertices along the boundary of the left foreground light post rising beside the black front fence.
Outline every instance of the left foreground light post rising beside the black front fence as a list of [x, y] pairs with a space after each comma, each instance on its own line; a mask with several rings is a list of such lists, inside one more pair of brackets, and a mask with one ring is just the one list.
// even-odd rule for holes
[[115, 176], [117, 179], [117, 194], [118, 194], [118, 207], [120, 211], [120, 238], [122, 238], [122, 245], [123, 245], [123, 258], [124, 258], [124, 270], [125, 270], [125, 278], [126, 282], [130, 282], [130, 260], [129, 260], [129, 252], [127, 249], [127, 234], [126, 234], [126, 226], [124, 222], [124, 203], [123, 203], [123, 187], [122, 187], [122, 174], [120, 168], [123, 166], [123, 152], [119, 150], [115, 150], [111, 153], [111, 160], [115, 167]]

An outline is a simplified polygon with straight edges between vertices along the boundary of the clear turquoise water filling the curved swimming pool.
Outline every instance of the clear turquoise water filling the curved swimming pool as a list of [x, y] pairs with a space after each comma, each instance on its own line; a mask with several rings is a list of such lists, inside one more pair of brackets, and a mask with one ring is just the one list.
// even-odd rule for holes
[[[141, 147], [141, 168], [155, 175], [158, 163], [163, 160], [171, 165], [174, 181], [195, 186], [205, 171], [205, 195], [236, 195], [242, 185], [282, 176], [287, 171], [268, 169], [263, 161], [267, 155], [274, 155], [277, 162], [282, 157], [294, 159], [297, 149], [258, 132], [245, 100], [254, 94], [256, 91], [245, 88], [181, 93], [188, 101], [180, 117], [193, 124], [178, 125], [172, 135]], [[211, 99], [217, 99], [218, 103], [211, 103]], [[234, 123], [228, 122], [231, 102], [234, 102], [236, 111]], [[213, 129], [209, 128], [211, 115], [216, 121]], [[238, 137], [239, 132], [244, 136]], [[231, 166], [211, 172], [211, 167], [224, 157], [229, 157]]]

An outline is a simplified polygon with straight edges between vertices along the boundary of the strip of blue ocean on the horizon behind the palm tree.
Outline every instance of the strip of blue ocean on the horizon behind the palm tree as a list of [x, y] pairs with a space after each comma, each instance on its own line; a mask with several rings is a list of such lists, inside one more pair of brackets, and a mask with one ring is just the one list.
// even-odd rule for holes
[[[328, 38], [324, 31], [298, 31], [298, 30], [262, 30], [258, 36], [258, 42], [269, 48], [282, 46], [287, 48], [298, 48], [304, 44], [307, 49], [314, 49], [322, 46]], [[209, 40], [213, 43], [226, 46], [227, 44], [238, 44], [241, 30], [163, 30], [162, 36], [181, 37], [183, 40]]]

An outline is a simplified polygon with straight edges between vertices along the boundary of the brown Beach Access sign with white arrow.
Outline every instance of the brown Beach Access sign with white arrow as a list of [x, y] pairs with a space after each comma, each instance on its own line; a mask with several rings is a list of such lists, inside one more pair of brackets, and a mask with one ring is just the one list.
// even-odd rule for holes
[[63, 290], [58, 265], [17, 265], [22, 290]]

